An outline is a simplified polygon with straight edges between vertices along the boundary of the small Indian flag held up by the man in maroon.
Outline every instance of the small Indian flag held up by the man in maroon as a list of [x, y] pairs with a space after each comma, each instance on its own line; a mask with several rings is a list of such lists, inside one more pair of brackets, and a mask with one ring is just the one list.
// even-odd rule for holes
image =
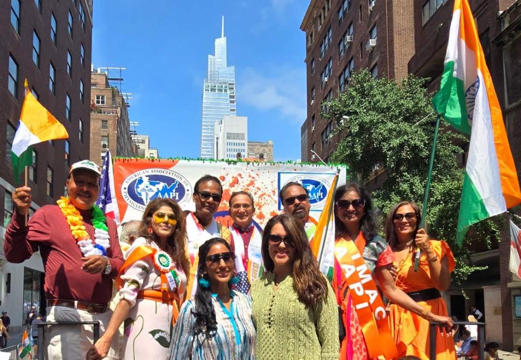
[[25, 85], [26, 98], [23, 100], [20, 122], [11, 148], [11, 161], [17, 182], [24, 167], [32, 164], [32, 145], [69, 137], [65, 127], [28, 90], [27, 80]]

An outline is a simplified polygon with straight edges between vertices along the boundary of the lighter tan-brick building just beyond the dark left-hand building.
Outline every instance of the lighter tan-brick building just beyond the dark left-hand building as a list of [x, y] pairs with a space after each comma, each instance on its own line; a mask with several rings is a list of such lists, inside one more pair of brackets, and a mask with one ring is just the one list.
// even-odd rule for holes
[[91, 161], [101, 164], [107, 150], [113, 157], [137, 156], [127, 107], [118, 88], [109, 84], [106, 73], [91, 74]]

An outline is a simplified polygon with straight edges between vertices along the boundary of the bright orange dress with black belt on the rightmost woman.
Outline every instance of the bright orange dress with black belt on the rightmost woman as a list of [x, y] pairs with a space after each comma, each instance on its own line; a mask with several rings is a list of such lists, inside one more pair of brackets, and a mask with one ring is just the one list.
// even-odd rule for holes
[[[438, 259], [444, 257], [449, 260], [449, 271], [452, 272], [456, 266], [454, 255], [444, 241], [431, 240], [432, 249], [438, 256]], [[414, 271], [414, 257], [416, 252], [409, 253], [398, 265], [396, 273], [396, 286], [404, 292], [413, 292], [419, 290], [436, 287], [430, 279], [429, 262], [427, 255], [421, 253], [418, 271]], [[419, 302], [432, 314], [449, 316], [447, 305], [443, 297]], [[414, 355], [422, 360], [429, 360], [429, 321], [411, 313], [398, 305], [392, 304], [389, 314], [389, 327], [396, 342], [398, 349], [398, 357], [406, 355]], [[455, 359], [456, 352], [454, 349], [454, 340], [452, 334], [445, 331], [437, 330], [436, 339], [436, 359]]]

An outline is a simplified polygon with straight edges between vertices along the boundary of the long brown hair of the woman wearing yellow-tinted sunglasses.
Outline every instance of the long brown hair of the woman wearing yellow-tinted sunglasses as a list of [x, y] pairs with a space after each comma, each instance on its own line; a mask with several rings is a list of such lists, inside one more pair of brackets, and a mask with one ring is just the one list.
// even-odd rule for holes
[[148, 229], [152, 225], [152, 215], [162, 206], [168, 206], [172, 209], [177, 219], [176, 230], [166, 241], [166, 251], [172, 257], [172, 260], [181, 266], [185, 275], [188, 276], [190, 274], [190, 261], [185, 252], [187, 222], [185, 221], [183, 211], [179, 205], [177, 205], [177, 202], [169, 198], [157, 198], [149, 202], [146, 206], [145, 212], [143, 213], [143, 219], [141, 220], [138, 234], [139, 236], [144, 237], [149, 244], [152, 242], [159, 244], [157, 235], [154, 232], [148, 232]]

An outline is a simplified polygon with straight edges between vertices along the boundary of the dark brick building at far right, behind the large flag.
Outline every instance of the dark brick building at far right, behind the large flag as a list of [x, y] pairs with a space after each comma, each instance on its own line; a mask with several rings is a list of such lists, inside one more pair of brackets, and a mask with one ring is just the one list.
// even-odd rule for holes
[[[521, 127], [515, 125], [515, 119], [521, 113], [521, 107], [518, 106], [521, 90], [518, 77], [513, 76], [521, 67], [518, 61], [514, 61], [520, 55], [520, 2], [515, 2], [510, 8], [512, 1], [504, 0], [469, 0], [469, 4], [502, 106], [511, 150], [520, 174]], [[430, 91], [439, 89], [453, 6], [453, 0], [414, 2], [415, 53], [408, 63], [408, 70], [417, 76], [431, 78], [428, 84]], [[467, 146], [463, 148], [467, 150]], [[514, 319], [512, 297], [514, 293], [521, 294], [521, 283], [513, 282], [512, 273], [508, 271], [508, 229], [503, 232], [501, 242], [492, 244], [492, 250], [480, 251], [485, 249], [480, 239], [475, 239], [473, 246], [474, 250], [479, 251], [473, 256], [473, 263], [487, 266], [488, 269], [474, 273], [462, 287], [446, 292], [449, 310], [452, 315], [463, 319], [469, 313], [468, 307], [475, 304], [485, 314], [487, 341], [499, 342], [504, 350], [517, 349], [521, 345], [521, 320]], [[461, 294], [462, 289], [467, 298]], [[515, 333], [513, 329], [516, 329]]]

